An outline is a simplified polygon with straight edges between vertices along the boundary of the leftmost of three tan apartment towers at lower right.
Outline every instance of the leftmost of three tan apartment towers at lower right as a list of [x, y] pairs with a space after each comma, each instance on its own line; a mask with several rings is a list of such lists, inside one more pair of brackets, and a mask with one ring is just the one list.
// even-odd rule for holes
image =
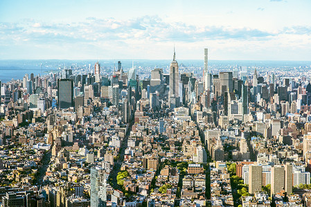
[[261, 191], [263, 183], [263, 167], [262, 166], [249, 166], [249, 193], [255, 194]]

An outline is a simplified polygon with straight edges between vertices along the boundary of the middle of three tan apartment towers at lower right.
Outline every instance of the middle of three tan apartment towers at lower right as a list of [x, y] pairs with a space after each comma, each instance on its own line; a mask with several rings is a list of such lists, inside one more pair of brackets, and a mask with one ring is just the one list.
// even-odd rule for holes
[[283, 166], [273, 166], [271, 168], [271, 195], [280, 193], [285, 187], [285, 170]]

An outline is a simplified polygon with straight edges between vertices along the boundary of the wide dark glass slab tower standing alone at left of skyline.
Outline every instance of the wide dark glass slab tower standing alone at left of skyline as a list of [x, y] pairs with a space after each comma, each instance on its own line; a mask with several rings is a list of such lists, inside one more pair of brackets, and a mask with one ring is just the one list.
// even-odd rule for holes
[[73, 106], [73, 81], [71, 79], [58, 79], [58, 108]]

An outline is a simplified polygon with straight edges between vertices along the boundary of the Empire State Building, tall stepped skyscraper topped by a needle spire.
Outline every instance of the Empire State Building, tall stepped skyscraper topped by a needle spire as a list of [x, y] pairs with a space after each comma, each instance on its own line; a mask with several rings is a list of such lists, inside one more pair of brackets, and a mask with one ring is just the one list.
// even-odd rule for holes
[[172, 57], [172, 62], [170, 63], [170, 92], [168, 95], [169, 103], [171, 108], [178, 107], [179, 105], [179, 70], [178, 63], [175, 58], [175, 48], [174, 55]]

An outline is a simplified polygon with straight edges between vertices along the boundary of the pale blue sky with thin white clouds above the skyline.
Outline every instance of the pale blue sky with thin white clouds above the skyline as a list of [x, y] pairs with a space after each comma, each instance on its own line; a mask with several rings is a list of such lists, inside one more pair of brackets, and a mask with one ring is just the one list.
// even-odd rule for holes
[[310, 0], [0, 0], [0, 59], [311, 61]]

